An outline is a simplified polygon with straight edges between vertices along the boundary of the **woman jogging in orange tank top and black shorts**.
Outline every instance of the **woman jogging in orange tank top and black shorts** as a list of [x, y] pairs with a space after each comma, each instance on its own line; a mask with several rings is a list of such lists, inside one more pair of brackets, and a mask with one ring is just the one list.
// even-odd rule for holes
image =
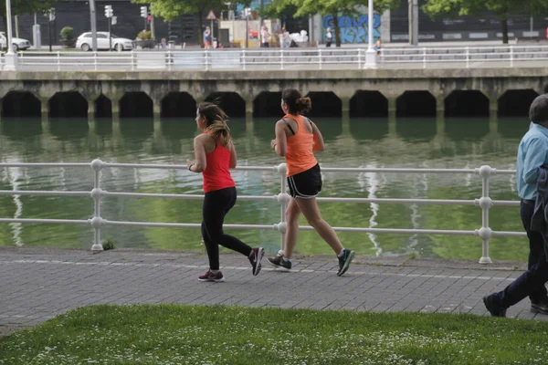
[[282, 94], [281, 109], [285, 117], [276, 123], [276, 139], [271, 141], [270, 146], [286, 159], [291, 199], [286, 210], [284, 249], [276, 257], [269, 257], [269, 263], [276, 268], [290, 270], [302, 213], [332, 247], [339, 259], [337, 276], [342, 276], [348, 270], [354, 252], [342, 247], [332, 226], [321, 217], [316, 202], [316, 196], [321, 192], [321, 170], [314, 151], [323, 151], [323, 137], [316, 124], [303, 115], [311, 110], [311, 99], [303, 98], [299, 90], [288, 89]]

